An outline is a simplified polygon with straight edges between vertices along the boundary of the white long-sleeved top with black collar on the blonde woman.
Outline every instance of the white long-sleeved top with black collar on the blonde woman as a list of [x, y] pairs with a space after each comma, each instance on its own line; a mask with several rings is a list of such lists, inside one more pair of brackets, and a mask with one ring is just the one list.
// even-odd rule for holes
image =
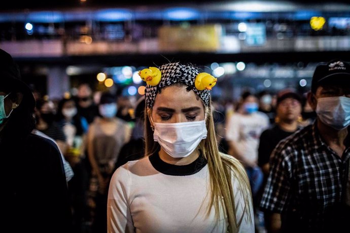
[[[193, 163], [188, 167], [191, 166]], [[227, 223], [223, 212], [218, 222], [214, 207], [209, 216], [206, 215], [211, 198], [206, 162], [202, 168], [196, 169], [200, 170], [190, 174], [184, 166], [165, 164], [158, 154], [119, 167], [109, 187], [108, 232], [226, 233]], [[171, 171], [172, 175], [158, 170], [165, 173]], [[253, 233], [253, 205], [250, 202], [248, 207], [244, 206], [234, 176], [232, 187], [236, 218], [237, 221], [242, 219], [239, 232]], [[250, 209], [252, 222], [249, 221], [249, 212], [243, 214], [244, 208]]]

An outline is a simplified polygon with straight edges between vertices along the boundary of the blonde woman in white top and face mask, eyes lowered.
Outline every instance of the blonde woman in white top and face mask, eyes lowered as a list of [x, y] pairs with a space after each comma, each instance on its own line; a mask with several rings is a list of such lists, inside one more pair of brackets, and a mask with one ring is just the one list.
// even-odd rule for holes
[[209, 90], [195, 87], [198, 69], [159, 70], [160, 82], [146, 86], [146, 157], [115, 171], [108, 232], [254, 232], [247, 174], [218, 150]]

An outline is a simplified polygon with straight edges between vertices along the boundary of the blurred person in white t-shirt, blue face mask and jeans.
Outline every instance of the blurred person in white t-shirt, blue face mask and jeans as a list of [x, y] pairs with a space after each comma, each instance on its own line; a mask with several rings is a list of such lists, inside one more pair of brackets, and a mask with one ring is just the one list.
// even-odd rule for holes
[[263, 182], [263, 173], [258, 166], [258, 146], [261, 133], [269, 125], [269, 118], [258, 111], [258, 99], [250, 91], [242, 93], [237, 111], [227, 120], [226, 125], [229, 154], [241, 161], [247, 170], [255, 209], [257, 193]]

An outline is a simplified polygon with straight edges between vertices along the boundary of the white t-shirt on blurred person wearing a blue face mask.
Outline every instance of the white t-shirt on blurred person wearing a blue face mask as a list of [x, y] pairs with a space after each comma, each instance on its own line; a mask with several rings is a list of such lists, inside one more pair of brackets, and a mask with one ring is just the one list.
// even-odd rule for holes
[[263, 112], [233, 113], [226, 127], [226, 140], [235, 143], [238, 153], [257, 164], [261, 133], [269, 127], [269, 118]]

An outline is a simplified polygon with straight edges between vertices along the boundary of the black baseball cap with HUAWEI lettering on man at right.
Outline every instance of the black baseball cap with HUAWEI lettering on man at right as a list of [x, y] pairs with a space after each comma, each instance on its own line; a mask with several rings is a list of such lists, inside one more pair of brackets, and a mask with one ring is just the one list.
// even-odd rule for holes
[[350, 63], [341, 59], [322, 62], [316, 66], [311, 81], [311, 92], [316, 93], [317, 88], [323, 84], [350, 85]]

